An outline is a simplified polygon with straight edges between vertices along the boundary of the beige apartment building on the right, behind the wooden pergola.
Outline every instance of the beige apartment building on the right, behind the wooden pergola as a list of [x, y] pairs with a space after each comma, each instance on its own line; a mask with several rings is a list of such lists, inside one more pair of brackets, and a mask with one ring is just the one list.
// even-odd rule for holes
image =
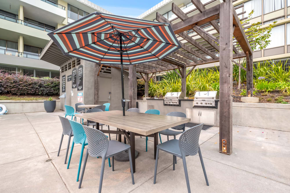
[[[222, 0], [201, 0], [201, 2], [206, 8], [210, 8], [218, 3], [221, 3]], [[138, 16], [138, 18], [155, 21], [156, 12], [159, 12], [169, 21], [173, 23], [178, 22], [180, 20], [171, 11], [172, 3], [175, 3], [185, 13], [195, 9], [195, 6], [190, 0], [164, 0]], [[272, 30], [270, 44], [263, 50], [255, 50], [253, 52], [254, 62], [270, 59], [281, 60], [287, 67], [289, 67], [290, 60], [287, 60], [290, 58], [290, 0], [236, 0], [233, 1], [233, 5], [236, 8], [243, 5], [243, 7], [236, 9], [237, 13], [242, 13], [244, 11], [246, 12], [239, 15], [241, 19], [247, 17], [249, 12], [254, 10], [250, 24], [260, 21], [262, 24], [261, 27], [267, 27], [270, 23], [277, 21], [276, 27]], [[198, 12], [198, 10], [195, 10], [191, 12], [190, 15]], [[246, 26], [247, 25], [245, 25], [245, 27]], [[214, 36], [218, 35], [216, 30], [209, 25], [204, 25], [204, 27], [201, 27]], [[204, 41], [192, 30], [187, 33], [200, 43]], [[186, 41], [184, 43], [186, 43]], [[219, 63], [200, 65], [199, 68], [214, 66], [219, 66]], [[159, 80], [158, 74], [157, 80]]]

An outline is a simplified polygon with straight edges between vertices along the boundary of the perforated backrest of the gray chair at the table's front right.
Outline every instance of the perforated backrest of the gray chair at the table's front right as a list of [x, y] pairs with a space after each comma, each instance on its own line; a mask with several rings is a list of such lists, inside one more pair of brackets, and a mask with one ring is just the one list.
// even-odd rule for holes
[[198, 152], [198, 140], [203, 123], [184, 131], [179, 137], [179, 148], [182, 156], [195, 155]]

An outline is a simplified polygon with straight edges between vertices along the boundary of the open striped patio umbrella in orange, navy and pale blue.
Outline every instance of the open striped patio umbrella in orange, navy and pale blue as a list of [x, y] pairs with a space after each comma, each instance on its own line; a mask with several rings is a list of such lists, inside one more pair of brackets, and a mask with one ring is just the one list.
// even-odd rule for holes
[[[91, 13], [48, 36], [64, 55], [97, 64], [135, 65], [160, 60], [179, 49], [180, 43], [168, 23]], [[124, 82], [122, 107], [125, 115]]]

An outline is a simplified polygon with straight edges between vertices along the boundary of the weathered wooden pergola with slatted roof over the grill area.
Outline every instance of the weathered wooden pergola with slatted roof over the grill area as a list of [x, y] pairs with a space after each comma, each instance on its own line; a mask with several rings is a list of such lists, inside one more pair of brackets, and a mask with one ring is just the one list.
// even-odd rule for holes
[[[156, 72], [175, 70], [181, 77], [183, 96], [186, 95], [186, 77], [197, 66], [207, 63], [220, 62], [220, 152], [232, 153], [232, 85], [233, 85], [233, 59], [247, 58], [247, 91], [251, 91], [253, 96], [253, 51], [251, 49], [248, 37], [251, 32], [245, 33], [241, 20], [235, 9], [242, 6], [233, 7], [231, 0], [223, 0], [211, 8], [206, 9], [206, 5], [214, 3], [212, 0], [202, 4], [200, 0], [191, 0], [195, 9], [184, 13], [177, 5], [172, 3], [172, 12], [177, 18], [169, 21], [158, 12], [156, 20], [170, 23], [174, 33], [181, 44], [181, 49], [176, 50], [166, 58], [137, 65], [124, 67], [129, 70], [129, 108], [136, 107], [137, 85], [136, 73], [139, 72], [145, 80], [145, 94], [148, 96], [148, 81]], [[235, 1], [235, 0], [233, 0]], [[192, 15], [192, 12], [198, 10], [199, 13]], [[217, 20], [219, 19], [219, 23]], [[216, 33], [209, 33], [204, 30], [205, 27], [214, 28]], [[248, 27], [246, 27], [248, 28]], [[200, 36], [195, 38], [192, 36]], [[191, 33], [191, 34], [190, 34]], [[117, 67], [111, 65], [111, 67]], [[192, 67], [186, 73], [186, 67]], [[101, 68], [101, 66], [99, 67]], [[149, 76], [151, 74], [151, 76]], [[97, 101], [96, 101], [97, 102]], [[223, 148], [223, 145], [225, 145]]]

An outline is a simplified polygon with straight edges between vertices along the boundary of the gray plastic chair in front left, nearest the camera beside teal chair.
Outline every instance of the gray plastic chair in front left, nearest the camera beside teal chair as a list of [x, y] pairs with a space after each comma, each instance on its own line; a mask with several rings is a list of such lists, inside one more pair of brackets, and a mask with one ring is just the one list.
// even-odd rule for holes
[[81, 172], [81, 180], [79, 182], [79, 188], [81, 188], [81, 182], [83, 181], [84, 172], [86, 169], [86, 163], [88, 159], [88, 155], [92, 157], [102, 157], [102, 166], [101, 166], [101, 176], [99, 182], [99, 193], [102, 191], [102, 183], [104, 177], [104, 168], [105, 168], [105, 160], [112, 157], [112, 171], [114, 171], [114, 155], [117, 155], [121, 152], [128, 150], [129, 153], [129, 161], [131, 168], [131, 176], [132, 183], [134, 182], [134, 174], [133, 174], [133, 165], [132, 165], [132, 157], [131, 157], [131, 146], [127, 144], [123, 144], [119, 141], [108, 141], [106, 135], [100, 130], [83, 126], [87, 139], [88, 139], [88, 149], [86, 152], [86, 157], [84, 160], [83, 171]]

